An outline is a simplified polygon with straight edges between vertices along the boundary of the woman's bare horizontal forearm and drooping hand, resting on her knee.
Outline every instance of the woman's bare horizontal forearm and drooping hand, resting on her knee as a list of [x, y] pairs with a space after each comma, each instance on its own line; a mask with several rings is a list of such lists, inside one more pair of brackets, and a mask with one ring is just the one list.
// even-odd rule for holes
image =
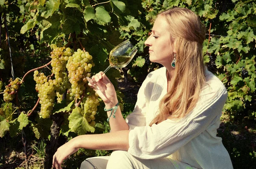
[[58, 148], [53, 155], [52, 167], [61, 169], [61, 163], [79, 148], [101, 150], [128, 150], [129, 130], [110, 132], [98, 135], [80, 135]]

